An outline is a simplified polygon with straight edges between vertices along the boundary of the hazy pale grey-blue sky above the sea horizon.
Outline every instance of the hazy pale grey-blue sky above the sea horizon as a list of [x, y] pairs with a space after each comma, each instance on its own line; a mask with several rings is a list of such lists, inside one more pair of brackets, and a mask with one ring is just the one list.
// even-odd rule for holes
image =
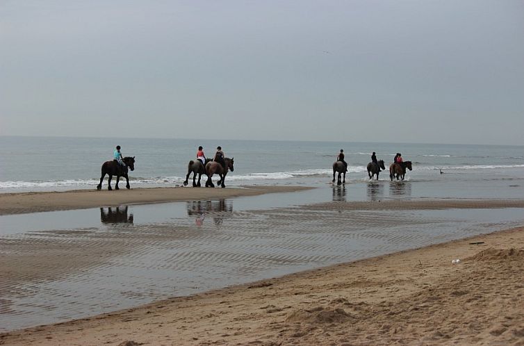
[[1, 0], [0, 135], [524, 145], [524, 1]]

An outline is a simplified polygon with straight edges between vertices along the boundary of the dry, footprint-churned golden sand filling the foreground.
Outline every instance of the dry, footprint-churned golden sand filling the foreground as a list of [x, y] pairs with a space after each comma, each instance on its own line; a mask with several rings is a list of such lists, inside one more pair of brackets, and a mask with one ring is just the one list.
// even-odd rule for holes
[[0, 344], [517, 344], [523, 260], [520, 227], [0, 333]]

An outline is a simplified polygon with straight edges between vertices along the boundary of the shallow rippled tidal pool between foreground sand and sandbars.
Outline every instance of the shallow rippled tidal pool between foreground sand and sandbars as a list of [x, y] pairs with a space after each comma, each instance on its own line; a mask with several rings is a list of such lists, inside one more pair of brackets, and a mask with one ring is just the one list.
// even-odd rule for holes
[[[364, 190], [404, 198], [409, 181]], [[380, 186], [383, 186], [382, 192]], [[378, 190], [378, 191], [377, 191]], [[398, 193], [398, 195], [397, 195]], [[0, 216], [0, 331], [48, 324], [524, 224], [521, 208], [366, 211], [352, 187]], [[318, 202], [336, 201], [331, 207]], [[304, 208], [304, 205], [308, 205]]]

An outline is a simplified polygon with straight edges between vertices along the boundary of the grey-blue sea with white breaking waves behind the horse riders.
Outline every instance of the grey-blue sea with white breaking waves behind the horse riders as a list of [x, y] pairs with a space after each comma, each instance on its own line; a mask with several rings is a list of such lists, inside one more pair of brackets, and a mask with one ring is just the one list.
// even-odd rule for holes
[[[234, 158], [234, 172], [225, 181], [231, 187], [331, 186], [331, 165], [344, 149], [350, 200], [524, 197], [523, 146], [17, 136], [0, 137], [0, 193], [93, 190], [117, 145], [136, 159], [131, 188], [181, 186], [197, 147], [212, 157], [220, 145]], [[366, 165], [372, 151], [386, 168], [398, 152], [411, 160], [403, 185], [390, 183], [388, 172], [370, 181]]]

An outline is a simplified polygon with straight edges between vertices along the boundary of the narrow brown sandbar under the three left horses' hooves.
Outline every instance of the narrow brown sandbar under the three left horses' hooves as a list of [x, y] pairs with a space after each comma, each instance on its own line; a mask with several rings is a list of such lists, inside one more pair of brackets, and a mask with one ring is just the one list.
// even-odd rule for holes
[[294, 192], [304, 186], [246, 186], [244, 188], [133, 188], [131, 190], [74, 190], [65, 192], [23, 192], [0, 194], [0, 215], [67, 211], [72, 209], [190, 201]]

